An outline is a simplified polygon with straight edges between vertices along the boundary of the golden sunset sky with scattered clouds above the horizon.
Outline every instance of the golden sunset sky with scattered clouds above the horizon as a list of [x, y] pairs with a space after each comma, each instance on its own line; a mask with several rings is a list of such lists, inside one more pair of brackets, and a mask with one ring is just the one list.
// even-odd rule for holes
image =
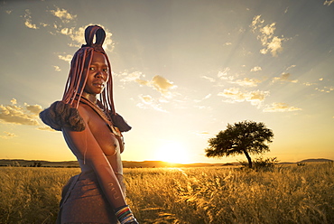
[[62, 98], [90, 24], [133, 127], [123, 160], [246, 161], [205, 156], [244, 120], [273, 130], [264, 158], [334, 160], [334, 0], [1, 1], [1, 159], [76, 160], [38, 114]]

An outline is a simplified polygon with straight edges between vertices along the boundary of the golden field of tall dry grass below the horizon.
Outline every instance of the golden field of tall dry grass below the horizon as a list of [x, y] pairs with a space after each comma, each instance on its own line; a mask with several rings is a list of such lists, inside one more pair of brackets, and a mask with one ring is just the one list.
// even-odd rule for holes
[[[0, 168], [0, 223], [54, 223], [77, 168]], [[140, 223], [334, 223], [334, 163], [125, 169]]]

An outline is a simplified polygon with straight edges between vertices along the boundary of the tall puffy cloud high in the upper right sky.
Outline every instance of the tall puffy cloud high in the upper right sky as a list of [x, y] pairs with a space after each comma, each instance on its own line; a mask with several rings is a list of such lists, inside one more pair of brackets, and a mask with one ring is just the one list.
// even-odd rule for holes
[[250, 25], [252, 31], [257, 33], [257, 40], [261, 42], [264, 49], [260, 52], [266, 54], [271, 52], [273, 56], [277, 56], [277, 53], [283, 51], [282, 44], [287, 41], [287, 38], [278, 37], [274, 35], [276, 30], [276, 23], [264, 25], [264, 20], [261, 19], [261, 15], [255, 15]]

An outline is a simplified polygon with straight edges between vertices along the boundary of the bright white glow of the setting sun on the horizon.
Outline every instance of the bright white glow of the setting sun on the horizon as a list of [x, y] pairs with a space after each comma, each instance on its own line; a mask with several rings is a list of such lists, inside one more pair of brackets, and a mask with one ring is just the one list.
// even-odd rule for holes
[[168, 163], [190, 163], [190, 154], [187, 148], [177, 142], [167, 142], [158, 148], [156, 158]]

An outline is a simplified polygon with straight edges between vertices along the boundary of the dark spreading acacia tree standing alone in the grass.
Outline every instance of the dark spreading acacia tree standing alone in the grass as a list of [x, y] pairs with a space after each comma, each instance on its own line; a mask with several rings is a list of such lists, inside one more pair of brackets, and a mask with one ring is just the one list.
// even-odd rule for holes
[[269, 152], [266, 143], [272, 143], [274, 133], [264, 123], [255, 121], [241, 121], [234, 125], [227, 124], [227, 129], [220, 131], [216, 137], [208, 140], [209, 147], [205, 149], [208, 157], [222, 157], [245, 154], [248, 165], [252, 168], [249, 154], [263, 154]]

